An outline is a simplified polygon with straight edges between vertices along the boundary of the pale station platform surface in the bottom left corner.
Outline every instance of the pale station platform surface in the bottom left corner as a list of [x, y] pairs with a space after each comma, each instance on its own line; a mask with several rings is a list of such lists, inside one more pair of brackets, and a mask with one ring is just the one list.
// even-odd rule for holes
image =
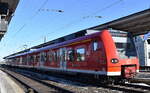
[[6, 73], [0, 70], [0, 93], [24, 93]]

